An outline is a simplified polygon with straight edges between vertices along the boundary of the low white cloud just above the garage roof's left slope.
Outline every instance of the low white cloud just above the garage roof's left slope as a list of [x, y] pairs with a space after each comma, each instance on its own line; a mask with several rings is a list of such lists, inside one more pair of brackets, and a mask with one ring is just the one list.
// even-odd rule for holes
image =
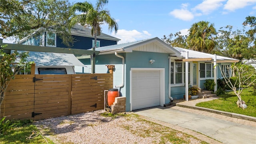
[[137, 30], [124, 30], [124, 29], [118, 30], [116, 34], [112, 32], [111, 35], [121, 39], [118, 42], [118, 44], [144, 40], [144, 39], [150, 38], [151, 36], [151, 34], [148, 33], [147, 31], [138, 32]]

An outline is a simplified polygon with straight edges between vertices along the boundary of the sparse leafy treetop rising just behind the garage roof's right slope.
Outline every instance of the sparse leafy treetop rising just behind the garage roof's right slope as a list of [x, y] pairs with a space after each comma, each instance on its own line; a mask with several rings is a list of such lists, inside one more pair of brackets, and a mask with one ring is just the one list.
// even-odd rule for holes
[[166, 37], [166, 36], [164, 35], [164, 37], [162, 38], [162, 40], [163, 40], [164, 42], [166, 42], [167, 44], [170, 44], [170, 45], [173, 46], [173, 47], [188, 48], [187, 43], [186, 43], [186, 38], [188, 37], [187, 35], [183, 36], [183, 35], [181, 35], [181, 32], [176, 32], [176, 33], [174, 34], [174, 37], [175, 37], [175, 39], [172, 40], [173, 34], [170, 33], [170, 34], [168, 35], [168, 37]]

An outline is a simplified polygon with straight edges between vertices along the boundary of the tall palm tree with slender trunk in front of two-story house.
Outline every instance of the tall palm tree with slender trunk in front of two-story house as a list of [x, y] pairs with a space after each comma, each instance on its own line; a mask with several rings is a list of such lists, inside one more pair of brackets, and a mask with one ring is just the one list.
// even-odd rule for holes
[[[108, 10], [103, 10], [103, 7], [108, 3], [108, 0], [97, 0], [96, 6], [94, 7], [89, 2], [77, 2], [72, 6], [74, 12], [78, 11], [81, 14], [75, 15], [71, 22], [73, 24], [81, 24], [82, 26], [89, 26], [92, 28], [92, 36], [94, 36], [94, 47], [95, 50], [97, 44], [97, 35], [101, 33], [100, 25], [103, 23], [108, 24], [108, 30], [115, 30], [115, 34], [118, 30], [118, 24], [114, 18], [110, 17]], [[95, 73], [95, 56], [92, 56], [92, 73]]]

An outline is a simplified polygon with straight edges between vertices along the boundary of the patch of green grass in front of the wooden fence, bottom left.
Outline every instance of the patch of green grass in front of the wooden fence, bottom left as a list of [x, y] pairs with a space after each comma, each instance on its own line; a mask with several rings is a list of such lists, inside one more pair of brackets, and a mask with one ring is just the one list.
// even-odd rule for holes
[[[32, 131], [36, 133], [32, 135]], [[36, 136], [39, 133], [39, 130], [36, 126], [32, 124], [27, 124], [24, 126], [20, 126], [18, 128], [14, 128], [9, 130], [4, 135], [0, 135], [0, 144], [54, 144], [51, 140], [47, 139], [47, 142], [42, 137], [42, 135]], [[34, 138], [28, 139], [30, 136], [36, 136]]]

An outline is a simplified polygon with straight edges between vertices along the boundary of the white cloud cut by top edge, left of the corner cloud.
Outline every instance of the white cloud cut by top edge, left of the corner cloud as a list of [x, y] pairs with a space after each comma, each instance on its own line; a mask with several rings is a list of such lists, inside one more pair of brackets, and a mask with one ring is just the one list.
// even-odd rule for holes
[[222, 1], [225, 0], [204, 0], [201, 4], [195, 6], [193, 10], [200, 10], [203, 15], [208, 15], [222, 6]]

